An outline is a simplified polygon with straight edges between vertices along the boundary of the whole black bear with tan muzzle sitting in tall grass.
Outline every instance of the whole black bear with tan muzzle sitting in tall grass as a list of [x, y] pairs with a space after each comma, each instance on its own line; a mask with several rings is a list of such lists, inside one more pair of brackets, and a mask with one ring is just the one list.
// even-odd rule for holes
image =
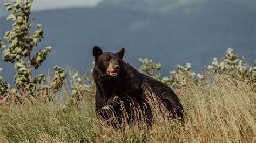
[[[173, 118], [183, 119], [183, 108], [177, 95], [165, 84], [154, 80], [153, 78], [139, 73], [129, 63], [123, 61], [124, 48], [117, 53], [102, 52], [102, 49], [93, 47], [93, 56], [95, 57], [95, 66], [92, 76], [96, 83], [96, 113], [104, 119], [109, 119], [106, 112], [107, 105], [111, 105], [116, 112], [116, 117], [121, 117], [120, 104], [116, 102], [116, 97], [124, 103], [126, 111], [130, 111], [132, 99], [138, 103], [141, 109], [148, 106], [146, 103], [145, 88], [149, 88], [157, 97], [163, 101]], [[149, 109], [149, 107], [146, 107]], [[146, 112], [151, 112], [147, 110]], [[151, 121], [151, 113], [148, 120]]]

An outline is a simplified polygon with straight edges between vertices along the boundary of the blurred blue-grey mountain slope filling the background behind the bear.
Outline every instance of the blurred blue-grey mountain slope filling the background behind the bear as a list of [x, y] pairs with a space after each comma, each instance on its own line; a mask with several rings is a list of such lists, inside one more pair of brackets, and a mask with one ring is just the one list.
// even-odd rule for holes
[[[96, 45], [111, 52], [125, 47], [127, 61], [134, 67], [139, 68], [139, 58], [149, 58], [163, 65], [164, 75], [170, 75], [178, 63], [205, 69], [228, 47], [251, 65], [256, 59], [254, 0], [106, 0], [95, 8], [32, 12], [31, 18], [45, 32], [38, 48], [52, 46], [37, 73], [48, 68], [53, 73], [55, 65], [83, 73], [85, 67], [91, 68]], [[0, 37], [10, 28], [11, 22], [1, 18]], [[12, 83], [14, 65], [0, 60], [0, 67]]]

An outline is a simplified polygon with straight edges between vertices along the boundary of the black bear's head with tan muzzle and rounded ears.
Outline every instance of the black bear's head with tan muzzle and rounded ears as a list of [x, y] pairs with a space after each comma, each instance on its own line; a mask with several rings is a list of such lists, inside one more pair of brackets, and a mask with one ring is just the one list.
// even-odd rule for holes
[[95, 46], [92, 50], [93, 56], [95, 57], [95, 67], [100, 70], [100, 73], [110, 76], [117, 77], [123, 67], [123, 56], [124, 48], [120, 49], [119, 52], [102, 52], [102, 49]]

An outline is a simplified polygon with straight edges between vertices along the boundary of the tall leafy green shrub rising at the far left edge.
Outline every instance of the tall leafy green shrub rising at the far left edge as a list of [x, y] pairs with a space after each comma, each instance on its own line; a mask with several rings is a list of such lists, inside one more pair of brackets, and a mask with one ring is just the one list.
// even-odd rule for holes
[[[32, 56], [33, 50], [43, 38], [41, 24], [37, 24], [37, 30], [30, 34], [33, 26], [33, 20], [30, 22], [30, 11], [33, 0], [15, 0], [14, 4], [5, 3], [4, 6], [11, 14], [6, 20], [12, 20], [12, 30], [6, 31], [4, 38], [9, 42], [8, 47], [0, 40], [3, 50], [3, 60], [6, 62], [15, 63], [17, 73], [15, 75], [15, 85], [19, 90], [29, 91], [30, 95], [35, 96], [39, 90], [47, 89], [45, 85], [44, 74], [32, 77], [32, 71], [37, 69], [46, 56], [50, 53], [51, 47], [39, 50]], [[27, 60], [25, 60], [27, 58]], [[66, 78], [64, 70], [59, 66], [55, 66], [55, 76], [50, 86], [54, 90], [58, 90]], [[59, 79], [59, 80], [58, 80]], [[39, 84], [45, 85], [44, 88], [38, 88]]]

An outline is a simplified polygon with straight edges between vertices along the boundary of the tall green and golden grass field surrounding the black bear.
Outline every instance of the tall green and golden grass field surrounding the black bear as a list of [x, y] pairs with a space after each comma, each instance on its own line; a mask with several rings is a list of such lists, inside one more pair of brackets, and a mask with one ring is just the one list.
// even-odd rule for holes
[[149, 99], [153, 125], [147, 126], [141, 119], [133, 126], [124, 122], [122, 130], [114, 130], [96, 117], [93, 96], [81, 95], [78, 106], [60, 105], [63, 98], [70, 97], [68, 88], [49, 102], [40, 97], [26, 97], [23, 104], [2, 101], [0, 142], [256, 141], [252, 84], [246, 79], [213, 78], [197, 85], [190, 82], [177, 92], [185, 110], [184, 124], [173, 121], [154, 96]]

